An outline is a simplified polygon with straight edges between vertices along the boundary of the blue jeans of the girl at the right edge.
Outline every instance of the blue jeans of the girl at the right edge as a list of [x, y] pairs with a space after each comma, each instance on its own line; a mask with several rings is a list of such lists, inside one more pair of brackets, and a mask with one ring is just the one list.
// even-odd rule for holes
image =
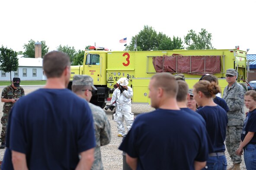
[[246, 145], [243, 158], [247, 170], [256, 170], [256, 145]]

